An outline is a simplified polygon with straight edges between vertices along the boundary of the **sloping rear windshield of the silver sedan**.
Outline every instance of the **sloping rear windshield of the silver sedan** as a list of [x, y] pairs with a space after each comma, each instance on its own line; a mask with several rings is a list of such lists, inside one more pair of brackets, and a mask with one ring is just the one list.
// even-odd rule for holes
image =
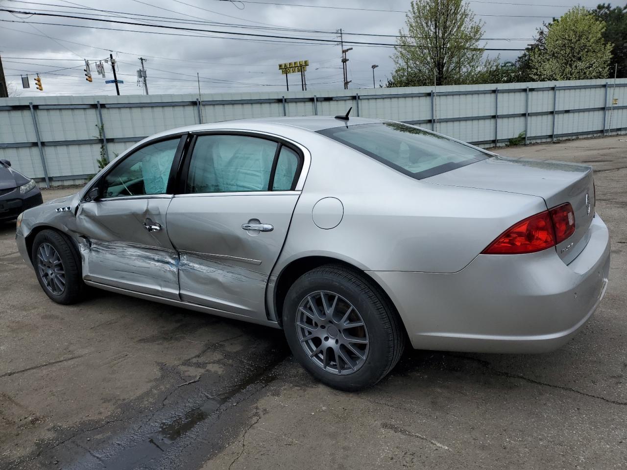
[[492, 156], [448, 137], [396, 122], [356, 124], [318, 132], [417, 179]]

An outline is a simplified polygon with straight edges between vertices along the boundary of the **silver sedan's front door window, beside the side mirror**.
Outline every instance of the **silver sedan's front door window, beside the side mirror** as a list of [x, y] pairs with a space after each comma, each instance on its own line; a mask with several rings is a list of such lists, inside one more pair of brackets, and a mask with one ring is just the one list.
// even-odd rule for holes
[[166, 194], [180, 137], [142, 147], [109, 172], [102, 197]]

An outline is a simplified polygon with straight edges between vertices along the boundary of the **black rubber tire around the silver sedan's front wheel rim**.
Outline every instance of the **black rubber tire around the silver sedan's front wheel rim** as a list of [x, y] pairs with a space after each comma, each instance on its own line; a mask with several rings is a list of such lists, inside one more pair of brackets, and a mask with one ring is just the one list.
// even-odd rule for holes
[[[55, 249], [60, 258], [63, 273], [65, 274], [65, 286], [63, 286], [61, 292], [55, 293], [51, 290], [50, 286], [46, 285], [46, 281], [39, 268], [40, 260], [38, 259], [38, 253], [40, 247], [44, 244], [48, 244]], [[83, 283], [80, 254], [71, 240], [65, 235], [50, 229], [43, 230], [36, 234], [33, 241], [31, 259], [33, 259], [33, 267], [37, 280], [43, 291], [51, 300], [63, 305], [70, 305], [83, 299], [86, 286], [85, 283]]]

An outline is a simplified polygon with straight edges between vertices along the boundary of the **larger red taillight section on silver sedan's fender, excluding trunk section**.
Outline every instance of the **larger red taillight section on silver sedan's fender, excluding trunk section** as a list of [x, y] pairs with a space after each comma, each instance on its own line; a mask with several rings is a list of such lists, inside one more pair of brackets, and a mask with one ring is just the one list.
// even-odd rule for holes
[[555, 231], [549, 211], [527, 217], [507, 229], [482, 254], [535, 253], [555, 245]]

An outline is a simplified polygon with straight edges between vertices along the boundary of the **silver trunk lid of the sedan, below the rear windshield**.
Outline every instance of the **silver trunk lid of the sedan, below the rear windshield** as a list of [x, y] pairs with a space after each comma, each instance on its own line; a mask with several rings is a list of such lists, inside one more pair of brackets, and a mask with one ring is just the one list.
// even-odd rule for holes
[[589, 240], [595, 202], [592, 167], [494, 157], [422, 181], [539, 196], [549, 209], [570, 202], [575, 212], [575, 232], [556, 246], [566, 264], [581, 253]]

